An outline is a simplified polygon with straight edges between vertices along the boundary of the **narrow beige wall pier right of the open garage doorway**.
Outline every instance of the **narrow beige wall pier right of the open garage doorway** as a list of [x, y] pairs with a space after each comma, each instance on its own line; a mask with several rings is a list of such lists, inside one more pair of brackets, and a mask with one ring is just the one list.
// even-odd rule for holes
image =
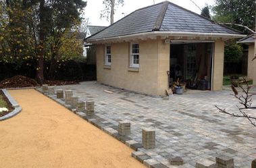
[[212, 90], [222, 90], [224, 72], [224, 41], [216, 41], [213, 50]]

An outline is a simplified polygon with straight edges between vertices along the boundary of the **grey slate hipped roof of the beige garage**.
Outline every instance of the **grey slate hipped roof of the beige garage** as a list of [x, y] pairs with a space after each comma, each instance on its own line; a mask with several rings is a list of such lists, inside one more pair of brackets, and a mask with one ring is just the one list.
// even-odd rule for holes
[[138, 9], [86, 40], [154, 31], [241, 34], [236, 30], [216, 24], [193, 11], [164, 1]]

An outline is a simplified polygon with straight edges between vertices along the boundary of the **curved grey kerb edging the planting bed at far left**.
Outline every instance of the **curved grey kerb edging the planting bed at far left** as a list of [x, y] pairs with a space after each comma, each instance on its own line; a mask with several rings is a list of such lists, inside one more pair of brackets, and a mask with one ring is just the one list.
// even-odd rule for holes
[[5, 96], [9, 100], [9, 102], [11, 103], [11, 106], [14, 107], [14, 110], [11, 111], [11, 113], [4, 115], [3, 117], [0, 117], [0, 121], [14, 117], [18, 113], [20, 113], [20, 111], [22, 111], [22, 107], [20, 107], [20, 105], [14, 100], [11, 94], [9, 94], [9, 92], [6, 89], [2, 89], [2, 91], [3, 91], [3, 94], [5, 94]]

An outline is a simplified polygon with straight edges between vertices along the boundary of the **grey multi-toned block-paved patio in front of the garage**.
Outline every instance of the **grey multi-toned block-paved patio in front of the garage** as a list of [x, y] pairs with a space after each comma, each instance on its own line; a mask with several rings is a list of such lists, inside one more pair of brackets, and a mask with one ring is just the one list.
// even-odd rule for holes
[[104, 129], [117, 130], [118, 121], [130, 121], [129, 138], [138, 146], [141, 129], [155, 129], [156, 148], [139, 150], [164, 165], [170, 166], [169, 155], [182, 157], [185, 164], [180, 167], [195, 167], [201, 159], [215, 161], [223, 154], [234, 158], [235, 167], [251, 167], [256, 159], [256, 128], [247, 119], [220, 114], [214, 107], [237, 111], [238, 102], [230, 96], [230, 90], [174, 95], [163, 100], [97, 82], [57, 88], [72, 89], [81, 100], [95, 101], [95, 122]]

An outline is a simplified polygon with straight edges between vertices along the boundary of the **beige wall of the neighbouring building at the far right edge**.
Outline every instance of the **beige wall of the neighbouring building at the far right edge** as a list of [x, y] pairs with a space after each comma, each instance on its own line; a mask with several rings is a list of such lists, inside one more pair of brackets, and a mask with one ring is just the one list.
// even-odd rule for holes
[[249, 45], [249, 52], [248, 52], [248, 78], [253, 80], [253, 84], [256, 85], [256, 60], [252, 61], [255, 57], [255, 45]]

